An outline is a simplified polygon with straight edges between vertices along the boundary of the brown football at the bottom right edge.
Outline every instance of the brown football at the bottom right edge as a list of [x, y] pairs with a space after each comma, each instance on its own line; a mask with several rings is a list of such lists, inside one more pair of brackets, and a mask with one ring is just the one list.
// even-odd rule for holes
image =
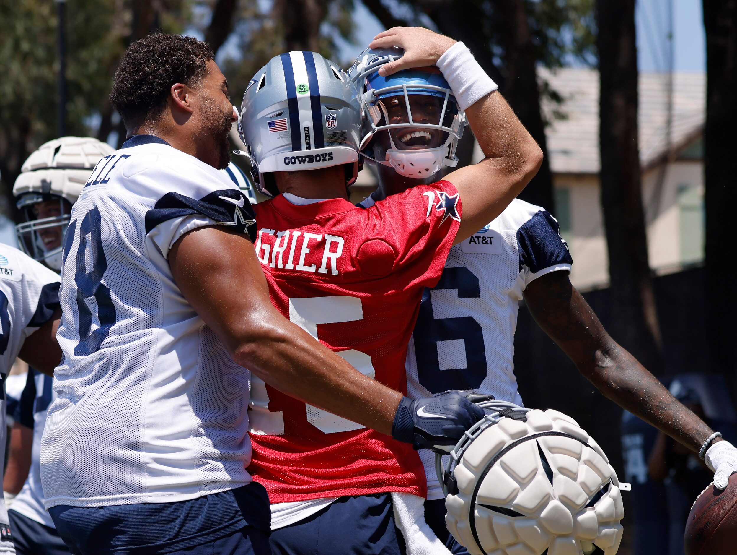
[[733, 554], [737, 545], [737, 474], [730, 476], [727, 488], [710, 483], [696, 497], [688, 514], [685, 536], [686, 555]]

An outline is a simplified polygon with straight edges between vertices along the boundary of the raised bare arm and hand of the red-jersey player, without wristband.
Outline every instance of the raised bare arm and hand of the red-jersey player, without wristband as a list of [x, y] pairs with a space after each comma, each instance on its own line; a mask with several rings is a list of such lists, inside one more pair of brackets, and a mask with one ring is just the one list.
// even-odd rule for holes
[[[405, 49], [402, 58], [379, 70], [381, 75], [391, 75], [402, 69], [437, 65], [454, 45], [452, 38], [421, 27], [394, 27], [377, 35], [368, 46]], [[539, 146], [499, 92], [489, 92], [470, 106], [461, 108], [466, 111], [485, 157], [478, 164], [460, 168], [447, 176], [458, 189], [463, 206], [455, 244], [499, 216], [537, 173], [542, 162]]]

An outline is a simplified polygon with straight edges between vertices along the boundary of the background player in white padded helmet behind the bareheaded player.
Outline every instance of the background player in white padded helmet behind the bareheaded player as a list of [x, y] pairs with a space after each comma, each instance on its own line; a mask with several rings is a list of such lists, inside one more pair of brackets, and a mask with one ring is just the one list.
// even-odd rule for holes
[[[77, 201], [92, 168], [103, 156], [115, 149], [91, 137], [61, 137], [46, 142], [21, 168], [15, 180], [13, 195], [26, 221], [15, 226], [18, 244], [38, 261], [55, 270], [61, 269], [62, 245], [69, 226], [71, 206]], [[11, 447], [8, 464], [26, 459], [30, 462], [21, 492], [8, 511], [18, 554], [52, 555], [69, 553], [69, 549], [43, 508], [43, 490], [39, 457], [46, 408], [52, 401], [52, 377], [29, 368], [26, 387], [18, 407], [16, 427], [32, 430], [32, 441]]]

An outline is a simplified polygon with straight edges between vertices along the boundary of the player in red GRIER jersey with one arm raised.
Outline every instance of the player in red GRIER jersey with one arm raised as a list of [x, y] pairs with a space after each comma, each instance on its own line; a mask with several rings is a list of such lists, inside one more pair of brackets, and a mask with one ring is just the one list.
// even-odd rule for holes
[[[256, 254], [273, 302], [366, 376], [404, 390], [407, 343], [423, 289], [439, 279], [452, 244], [523, 189], [541, 155], [497, 86], [453, 39], [396, 28], [377, 35], [375, 44], [408, 48], [396, 69], [439, 67], [467, 103], [487, 156], [482, 162], [368, 210], [354, 207], [346, 186], [359, 163], [357, 91], [345, 72], [315, 52], [276, 56], [256, 72], [240, 125], [257, 186], [274, 197], [254, 207]], [[460, 118], [450, 123], [456, 131], [462, 124]], [[402, 403], [408, 413], [434, 414], [438, 424], [445, 419], [439, 406]], [[257, 376], [251, 409], [248, 469], [272, 503], [273, 553], [399, 554], [394, 511], [410, 516], [398, 521], [415, 547], [423, 534], [414, 531], [426, 525], [411, 515], [419, 507], [422, 518], [425, 476], [416, 453], [396, 441], [397, 430], [394, 440], [382, 436]], [[439, 444], [419, 438], [415, 447]]]

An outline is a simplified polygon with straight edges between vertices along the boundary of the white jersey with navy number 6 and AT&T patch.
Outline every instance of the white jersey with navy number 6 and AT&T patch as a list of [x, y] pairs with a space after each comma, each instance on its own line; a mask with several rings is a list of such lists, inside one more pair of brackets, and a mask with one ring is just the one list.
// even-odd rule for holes
[[[367, 206], [372, 199], [366, 199]], [[522, 404], [514, 376], [514, 331], [525, 287], [573, 260], [544, 208], [515, 199], [492, 223], [450, 249], [443, 275], [425, 290], [407, 351], [413, 399], [449, 389]], [[443, 497], [435, 455], [419, 452], [427, 498]]]

